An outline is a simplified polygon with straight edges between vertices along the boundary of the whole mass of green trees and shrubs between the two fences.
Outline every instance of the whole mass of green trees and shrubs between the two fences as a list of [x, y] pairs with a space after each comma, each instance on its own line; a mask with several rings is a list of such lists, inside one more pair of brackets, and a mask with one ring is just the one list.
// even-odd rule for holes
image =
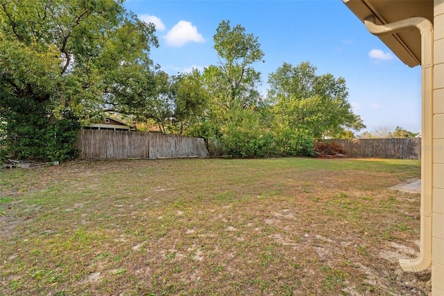
[[187, 125], [187, 134], [205, 138], [210, 151], [216, 147], [216, 153], [235, 157], [314, 156], [314, 139], [352, 138], [350, 129], [364, 127], [347, 101], [343, 78], [316, 75], [309, 63], [284, 63], [270, 74], [264, 99], [257, 89], [260, 73], [252, 66], [264, 57], [258, 39], [223, 21], [214, 49], [220, 65], [206, 67], [201, 84], [186, 88], [188, 97], [205, 90], [205, 108], [197, 109], [201, 112]]

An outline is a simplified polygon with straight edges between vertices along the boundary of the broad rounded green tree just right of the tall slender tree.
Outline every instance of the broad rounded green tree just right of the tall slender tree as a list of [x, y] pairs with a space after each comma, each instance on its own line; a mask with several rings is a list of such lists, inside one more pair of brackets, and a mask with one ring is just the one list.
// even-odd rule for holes
[[268, 77], [277, 129], [304, 131], [312, 138], [341, 137], [364, 128], [348, 102], [345, 79], [316, 74], [316, 67], [284, 63]]

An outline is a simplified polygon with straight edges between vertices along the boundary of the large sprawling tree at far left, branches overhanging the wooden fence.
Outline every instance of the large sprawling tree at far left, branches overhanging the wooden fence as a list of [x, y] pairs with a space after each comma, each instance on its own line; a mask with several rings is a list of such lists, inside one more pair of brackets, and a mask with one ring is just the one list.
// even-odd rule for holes
[[[157, 73], [149, 58], [157, 47], [155, 28], [122, 4], [0, 1], [0, 130], [8, 156], [69, 158], [72, 149], [65, 156], [32, 152], [36, 145], [48, 146], [38, 131], [57, 142], [60, 120], [76, 129], [74, 123], [105, 109], [128, 111], [155, 96]], [[24, 120], [28, 117], [33, 120]]]

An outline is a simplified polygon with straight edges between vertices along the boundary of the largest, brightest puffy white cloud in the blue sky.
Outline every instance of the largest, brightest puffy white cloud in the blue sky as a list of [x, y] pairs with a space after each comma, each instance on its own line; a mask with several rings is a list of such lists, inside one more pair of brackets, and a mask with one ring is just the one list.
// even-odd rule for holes
[[178, 22], [167, 35], [164, 36], [167, 40], [167, 45], [171, 47], [181, 47], [187, 42], [205, 42], [205, 39], [197, 31], [197, 27], [193, 26], [191, 22]]

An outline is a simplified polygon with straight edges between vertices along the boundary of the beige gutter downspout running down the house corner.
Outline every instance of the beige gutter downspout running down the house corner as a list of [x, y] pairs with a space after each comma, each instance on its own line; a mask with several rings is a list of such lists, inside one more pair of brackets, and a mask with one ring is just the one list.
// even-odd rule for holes
[[400, 259], [403, 270], [418, 272], [432, 264], [432, 202], [433, 202], [433, 25], [424, 17], [411, 17], [391, 24], [377, 25], [375, 17], [364, 20], [374, 35], [394, 34], [418, 28], [421, 34], [422, 72], [422, 151], [420, 254], [414, 259]]

